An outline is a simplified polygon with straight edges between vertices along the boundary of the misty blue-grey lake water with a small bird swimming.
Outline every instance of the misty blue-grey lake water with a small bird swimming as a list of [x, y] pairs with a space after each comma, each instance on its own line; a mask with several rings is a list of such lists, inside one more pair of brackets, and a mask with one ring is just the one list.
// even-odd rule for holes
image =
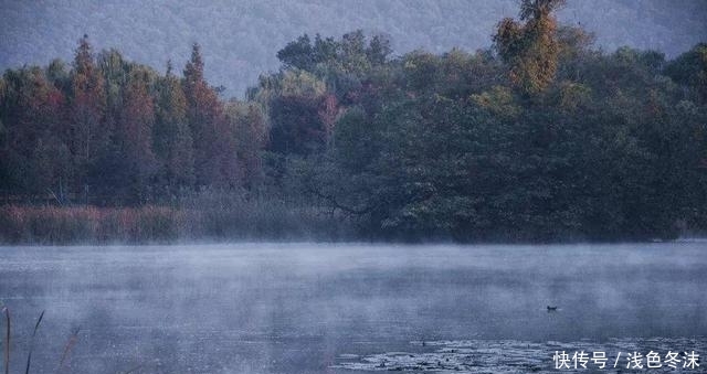
[[0, 247], [15, 373], [42, 310], [35, 373], [558, 372], [580, 350], [701, 372], [706, 296], [705, 242]]

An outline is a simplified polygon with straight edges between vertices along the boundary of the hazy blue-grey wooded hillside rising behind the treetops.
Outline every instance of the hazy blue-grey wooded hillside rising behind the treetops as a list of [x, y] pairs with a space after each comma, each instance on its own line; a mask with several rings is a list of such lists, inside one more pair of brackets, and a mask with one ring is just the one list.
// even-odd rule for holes
[[[561, 20], [595, 32], [606, 50], [627, 44], [673, 56], [707, 40], [705, 0], [568, 2]], [[155, 67], [171, 58], [181, 68], [199, 42], [209, 81], [242, 96], [260, 73], [277, 68], [275, 53], [305, 32], [386, 33], [397, 53], [476, 50], [490, 45], [494, 25], [517, 8], [514, 0], [0, 0], [0, 68], [70, 60], [84, 33], [98, 49], [116, 47]]]

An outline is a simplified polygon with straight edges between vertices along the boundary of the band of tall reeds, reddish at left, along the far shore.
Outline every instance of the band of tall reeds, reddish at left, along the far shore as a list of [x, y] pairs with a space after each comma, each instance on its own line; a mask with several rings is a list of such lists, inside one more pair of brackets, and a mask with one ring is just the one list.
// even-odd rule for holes
[[201, 193], [179, 206], [0, 206], [0, 244], [338, 241], [352, 238], [351, 227], [321, 207], [236, 193]]

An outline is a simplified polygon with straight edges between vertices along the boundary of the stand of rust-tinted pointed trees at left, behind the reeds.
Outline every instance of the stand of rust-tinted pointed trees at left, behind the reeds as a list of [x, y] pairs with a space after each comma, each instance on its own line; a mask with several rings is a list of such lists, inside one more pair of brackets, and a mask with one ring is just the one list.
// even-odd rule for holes
[[[138, 204], [197, 186], [233, 188], [257, 162], [254, 106], [225, 103], [203, 78], [199, 45], [178, 77], [93, 54], [81, 39], [71, 67], [8, 70], [1, 84], [3, 193], [70, 193], [76, 202]], [[238, 133], [238, 137], [236, 137]]]

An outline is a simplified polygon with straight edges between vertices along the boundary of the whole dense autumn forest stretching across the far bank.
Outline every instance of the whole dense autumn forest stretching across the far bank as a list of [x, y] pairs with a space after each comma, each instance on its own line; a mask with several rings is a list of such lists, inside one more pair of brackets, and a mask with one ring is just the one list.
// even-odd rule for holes
[[[282, 236], [284, 216], [326, 238], [704, 232], [707, 44], [669, 60], [606, 53], [558, 23], [562, 3], [523, 1], [474, 53], [394, 56], [384, 35], [304, 34], [242, 100], [205, 81], [197, 44], [162, 74], [84, 36], [73, 62], [0, 79], [0, 236], [42, 241], [77, 206], [181, 220], [148, 239]], [[217, 223], [183, 233], [204, 214]], [[73, 239], [55, 231], [45, 239]]]

